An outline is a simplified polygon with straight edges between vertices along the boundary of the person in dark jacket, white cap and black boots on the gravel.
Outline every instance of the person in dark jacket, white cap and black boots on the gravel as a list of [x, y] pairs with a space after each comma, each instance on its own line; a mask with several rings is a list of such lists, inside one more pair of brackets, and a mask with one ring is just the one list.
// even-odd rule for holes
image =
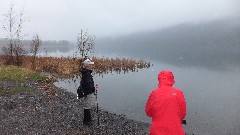
[[82, 79], [81, 85], [84, 89], [84, 98], [83, 98], [83, 109], [84, 109], [84, 116], [83, 116], [83, 124], [84, 125], [91, 125], [92, 124], [92, 117], [91, 117], [91, 109], [95, 105], [95, 87], [94, 81], [92, 76], [92, 69], [93, 69], [94, 62], [90, 59], [86, 59], [83, 62], [83, 68], [81, 71]]

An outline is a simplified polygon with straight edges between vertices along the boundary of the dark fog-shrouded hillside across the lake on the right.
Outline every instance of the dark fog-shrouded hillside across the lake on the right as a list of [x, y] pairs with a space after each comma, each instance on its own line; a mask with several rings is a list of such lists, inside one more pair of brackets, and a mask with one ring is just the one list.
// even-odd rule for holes
[[96, 50], [160, 60], [178, 66], [240, 66], [240, 18], [181, 24], [97, 41]]

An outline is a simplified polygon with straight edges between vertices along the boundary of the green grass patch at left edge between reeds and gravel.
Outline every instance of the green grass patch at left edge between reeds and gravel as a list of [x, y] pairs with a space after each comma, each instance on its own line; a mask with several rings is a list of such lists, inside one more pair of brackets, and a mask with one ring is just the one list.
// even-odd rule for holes
[[[0, 96], [15, 94], [21, 91], [31, 91], [28, 85], [22, 84], [29, 80], [43, 81], [45, 79], [46, 77], [40, 73], [25, 68], [0, 65]], [[10, 83], [15, 85], [10, 85]]]

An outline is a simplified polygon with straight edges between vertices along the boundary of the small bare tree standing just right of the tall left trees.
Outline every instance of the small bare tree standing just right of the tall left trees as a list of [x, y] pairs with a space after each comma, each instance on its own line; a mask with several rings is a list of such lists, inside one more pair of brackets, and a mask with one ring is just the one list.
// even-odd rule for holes
[[39, 47], [41, 46], [41, 40], [38, 36], [38, 34], [36, 34], [35, 36], [33, 36], [32, 42], [30, 44], [31, 46], [31, 53], [32, 53], [32, 69], [35, 70], [35, 61], [36, 61], [36, 55], [37, 55], [37, 51], [39, 49]]

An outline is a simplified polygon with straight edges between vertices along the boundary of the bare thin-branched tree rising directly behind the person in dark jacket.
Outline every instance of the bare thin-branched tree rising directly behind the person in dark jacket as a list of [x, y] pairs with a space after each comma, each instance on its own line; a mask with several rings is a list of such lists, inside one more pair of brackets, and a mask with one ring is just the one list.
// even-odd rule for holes
[[89, 53], [94, 52], [94, 45], [95, 45], [95, 36], [89, 34], [87, 31], [81, 30], [77, 37], [77, 46], [80, 56], [84, 58], [88, 56]]

